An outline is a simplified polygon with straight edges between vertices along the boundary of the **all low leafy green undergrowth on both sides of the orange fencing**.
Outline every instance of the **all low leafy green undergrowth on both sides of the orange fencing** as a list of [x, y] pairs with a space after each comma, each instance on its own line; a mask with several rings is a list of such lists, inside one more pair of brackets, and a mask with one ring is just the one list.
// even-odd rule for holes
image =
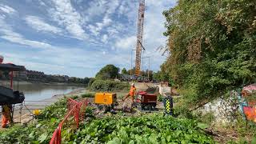
[[[78, 97], [74, 97], [78, 98]], [[49, 143], [54, 130], [66, 114], [66, 98], [47, 107], [38, 120], [26, 126], [15, 125], [0, 132], [0, 143]], [[214, 143], [203, 129], [206, 126], [186, 118], [148, 114], [126, 117], [122, 114], [95, 118], [86, 109], [86, 121], [75, 130], [62, 129], [63, 143]]]

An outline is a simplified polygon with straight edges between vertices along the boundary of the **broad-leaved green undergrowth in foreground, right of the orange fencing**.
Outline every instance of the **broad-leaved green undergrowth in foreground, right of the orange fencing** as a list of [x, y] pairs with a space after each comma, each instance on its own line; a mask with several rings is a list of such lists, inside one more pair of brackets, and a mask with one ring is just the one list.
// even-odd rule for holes
[[139, 117], [110, 116], [85, 122], [75, 143], [214, 143], [202, 123], [162, 114]]

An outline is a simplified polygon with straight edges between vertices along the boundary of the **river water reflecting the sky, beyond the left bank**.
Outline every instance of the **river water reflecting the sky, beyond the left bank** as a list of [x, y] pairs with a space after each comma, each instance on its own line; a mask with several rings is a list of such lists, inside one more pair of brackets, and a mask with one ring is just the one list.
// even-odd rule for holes
[[18, 84], [14, 82], [14, 90], [19, 90], [25, 94], [26, 101], [40, 101], [51, 98], [56, 94], [67, 94], [78, 86], [52, 85], [52, 84]]

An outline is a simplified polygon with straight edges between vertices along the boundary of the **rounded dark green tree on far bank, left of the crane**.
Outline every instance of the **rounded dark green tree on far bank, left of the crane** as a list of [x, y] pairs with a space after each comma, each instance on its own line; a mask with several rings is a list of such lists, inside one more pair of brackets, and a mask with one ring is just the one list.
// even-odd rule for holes
[[96, 74], [97, 79], [114, 79], [118, 76], [119, 68], [114, 65], [106, 65]]

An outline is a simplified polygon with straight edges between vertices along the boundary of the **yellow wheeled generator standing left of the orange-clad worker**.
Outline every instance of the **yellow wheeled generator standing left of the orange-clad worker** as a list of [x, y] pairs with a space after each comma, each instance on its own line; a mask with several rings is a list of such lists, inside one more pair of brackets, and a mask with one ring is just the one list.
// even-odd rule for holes
[[117, 94], [96, 93], [94, 103], [98, 106], [98, 110], [103, 110], [104, 112], [113, 111], [114, 106], [118, 105]]

